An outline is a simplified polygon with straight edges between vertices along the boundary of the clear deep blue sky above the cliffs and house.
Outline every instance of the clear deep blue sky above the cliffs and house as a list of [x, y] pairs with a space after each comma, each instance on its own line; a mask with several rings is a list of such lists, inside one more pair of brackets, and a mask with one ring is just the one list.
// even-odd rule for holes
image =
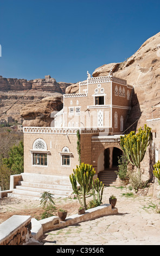
[[159, 0], [0, 0], [0, 75], [86, 80], [158, 33], [159, 11]]

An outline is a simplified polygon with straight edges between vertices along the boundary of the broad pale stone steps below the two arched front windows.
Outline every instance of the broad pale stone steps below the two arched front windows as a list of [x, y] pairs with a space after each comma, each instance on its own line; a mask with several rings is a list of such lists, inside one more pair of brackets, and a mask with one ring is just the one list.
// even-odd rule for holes
[[72, 194], [72, 185], [68, 177], [22, 173], [8, 197], [40, 200], [42, 193], [48, 191], [54, 198], [64, 198]]

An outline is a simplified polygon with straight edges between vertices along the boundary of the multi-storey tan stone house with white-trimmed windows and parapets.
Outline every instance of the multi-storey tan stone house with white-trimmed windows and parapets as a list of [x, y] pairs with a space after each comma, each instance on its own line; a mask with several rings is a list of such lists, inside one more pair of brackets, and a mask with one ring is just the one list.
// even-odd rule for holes
[[45, 189], [55, 181], [59, 188], [69, 186], [69, 174], [79, 159], [92, 164], [97, 175], [116, 166], [132, 92], [133, 86], [112, 71], [104, 77], [88, 74], [79, 83], [79, 93], [63, 95], [63, 109], [55, 114], [54, 127], [23, 127], [23, 182], [46, 184]]

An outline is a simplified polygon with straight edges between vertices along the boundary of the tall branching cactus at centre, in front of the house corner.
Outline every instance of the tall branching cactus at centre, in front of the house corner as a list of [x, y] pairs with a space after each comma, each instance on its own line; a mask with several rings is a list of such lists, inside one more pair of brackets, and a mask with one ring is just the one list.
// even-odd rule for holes
[[[76, 169], [73, 169], [73, 174], [69, 175], [73, 191], [77, 194], [80, 205], [85, 207], [85, 209], [87, 209], [86, 194], [91, 190], [94, 174], [95, 170], [92, 168], [92, 165], [81, 163], [80, 166], [76, 166]], [[77, 182], [82, 188], [82, 202]]]

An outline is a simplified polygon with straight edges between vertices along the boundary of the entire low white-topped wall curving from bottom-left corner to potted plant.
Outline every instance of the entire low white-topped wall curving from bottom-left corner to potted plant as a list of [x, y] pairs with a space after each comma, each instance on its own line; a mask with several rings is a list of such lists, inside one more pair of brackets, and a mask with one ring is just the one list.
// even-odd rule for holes
[[103, 204], [86, 210], [85, 214], [69, 216], [65, 221], [60, 221], [57, 216], [37, 221], [31, 216], [13, 215], [0, 225], [0, 245], [28, 245], [39, 242], [40, 237], [49, 230], [113, 214], [118, 214], [118, 209], [112, 209], [111, 204]]

